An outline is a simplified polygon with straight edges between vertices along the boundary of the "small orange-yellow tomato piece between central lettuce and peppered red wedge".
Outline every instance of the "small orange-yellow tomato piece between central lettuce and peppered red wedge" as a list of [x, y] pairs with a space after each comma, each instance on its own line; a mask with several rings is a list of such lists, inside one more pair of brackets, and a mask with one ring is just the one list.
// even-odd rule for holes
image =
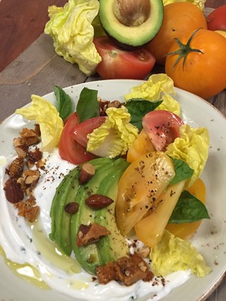
[[148, 134], [145, 130], [141, 130], [141, 133], [136, 137], [133, 144], [129, 147], [127, 152], [127, 161], [133, 162], [138, 159], [142, 154], [146, 154], [148, 152], [155, 152], [155, 147], [153, 142], [151, 142]]

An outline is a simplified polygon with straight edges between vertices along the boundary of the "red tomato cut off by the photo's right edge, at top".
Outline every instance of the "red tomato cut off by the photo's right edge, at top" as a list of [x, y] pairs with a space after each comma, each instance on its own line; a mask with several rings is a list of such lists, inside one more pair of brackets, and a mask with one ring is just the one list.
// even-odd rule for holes
[[208, 30], [226, 30], [226, 4], [212, 11], [206, 21]]

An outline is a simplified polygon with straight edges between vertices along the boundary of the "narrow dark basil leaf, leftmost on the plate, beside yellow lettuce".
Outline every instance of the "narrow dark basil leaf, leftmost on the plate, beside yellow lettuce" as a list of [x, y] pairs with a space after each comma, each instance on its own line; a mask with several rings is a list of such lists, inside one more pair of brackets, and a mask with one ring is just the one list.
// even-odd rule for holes
[[71, 102], [71, 98], [69, 94], [61, 89], [61, 87], [54, 86], [54, 94], [57, 98], [57, 111], [59, 111], [59, 116], [63, 119], [63, 121], [73, 113], [73, 104]]

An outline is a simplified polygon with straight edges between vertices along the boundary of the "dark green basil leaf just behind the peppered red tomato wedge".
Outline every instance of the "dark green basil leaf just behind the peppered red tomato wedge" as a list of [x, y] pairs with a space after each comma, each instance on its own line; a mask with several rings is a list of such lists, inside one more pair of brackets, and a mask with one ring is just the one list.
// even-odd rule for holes
[[138, 130], [142, 130], [143, 116], [145, 116], [145, 114], [150, 111], [154, 111], [160, 104], [162, 104], [162, 100], [160, 100], [159, 102], [150, 102], [141, 98], [129, 99], [129, 101], [126, 102], [125, 106], [131, 115], [130, 123], [135, 125]]

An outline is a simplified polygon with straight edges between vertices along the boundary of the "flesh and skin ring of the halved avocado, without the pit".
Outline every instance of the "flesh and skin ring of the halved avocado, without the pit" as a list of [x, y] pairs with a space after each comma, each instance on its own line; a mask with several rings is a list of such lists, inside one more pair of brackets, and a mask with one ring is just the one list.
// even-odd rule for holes
[[100, 0], [99, 2], [99, 18], [103, 30], [109, 39], [123, 49], [136, 50], [145, 47], [157, 35], [162, 26], [162, 0], [150, 0], [151, 12], [148, 21], [134, 27], [119, 23], [112, 8], [114, 0]]

